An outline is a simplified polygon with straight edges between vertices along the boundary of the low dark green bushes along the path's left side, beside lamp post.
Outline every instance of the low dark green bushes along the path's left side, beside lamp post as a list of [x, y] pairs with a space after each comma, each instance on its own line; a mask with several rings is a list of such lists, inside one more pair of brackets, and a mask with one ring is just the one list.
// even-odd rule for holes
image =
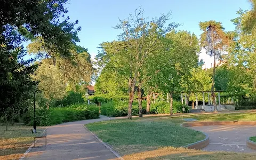
[[[23, 122], [33, 125], [33, 113], [29, 112], [23, 116]], [[99, 107], [95, 105], [73, 105], [70, 107], [56, 107], [50, 109], [37, 109], [37, 125], [47, 126], [71, 121], [99, 118]]]

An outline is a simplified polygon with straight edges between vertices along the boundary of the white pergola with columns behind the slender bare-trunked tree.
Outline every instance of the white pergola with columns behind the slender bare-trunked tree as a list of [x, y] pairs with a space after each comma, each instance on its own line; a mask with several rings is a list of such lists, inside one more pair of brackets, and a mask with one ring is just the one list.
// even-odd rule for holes
[[[221, 99], [220, 99], [220, 92], [226, 92], [226, 91], [214, 91], [215, 93], [218, 93], [218, 103], [217, 103], [217, 96], [215, 98], [215, 102], [217, 105], [217, 110], [218, 111], [223, 111], [223, 110], [235, 110], [235, 105], [234, 105], [234, 100], [231, 97], [231, 103], [229, 101], [229, 97], [228, 97], [228, 103], [221, 103]], [[211, 112], [214, 111], [214, 106], [212, 103], [212, 98], [210, 96], [209, 93], [211, 93], [211, 91], [190, 91], [190, 93], [196, 93], [196, 106], [195, 108], [190, 109], [190, 112], [202, 112], [202, 111], [206, 111], [206, 112]], [[203, 95], [203, 105], [198, 105], [198, 99], [197, 99], [197, 93], [202, 93]], [[205, 105], [205, 95], [204, 93], [208, 93], [208, 104]], [[186, 93], [181, 93], [181, 103], [183, 104], [183, 95], [185, 98], [185, 102], [187, 101], [187, 94]]]

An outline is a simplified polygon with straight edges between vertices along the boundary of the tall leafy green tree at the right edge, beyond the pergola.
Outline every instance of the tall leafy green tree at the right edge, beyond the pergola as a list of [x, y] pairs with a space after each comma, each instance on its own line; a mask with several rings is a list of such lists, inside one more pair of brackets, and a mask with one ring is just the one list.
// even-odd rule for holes
[[246, 29], [252, 11], [237, 11], [238, 17], [231, 20], [235, 25], [234, 41], [225, 57], [228, 63], [229, 81], [227, 90], [236, 98], [250, 98], [256, 94], [256, 43], [255, 29]]

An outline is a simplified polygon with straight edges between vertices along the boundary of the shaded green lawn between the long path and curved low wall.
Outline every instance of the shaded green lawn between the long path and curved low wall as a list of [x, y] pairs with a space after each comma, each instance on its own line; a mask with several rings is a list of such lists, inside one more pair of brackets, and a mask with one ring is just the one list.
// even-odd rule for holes
[[205, 138], [203, 133], [169, 119], [121, 119], [90, 123], [86, 127], [121, 155], [166, 146], [182, 147]]

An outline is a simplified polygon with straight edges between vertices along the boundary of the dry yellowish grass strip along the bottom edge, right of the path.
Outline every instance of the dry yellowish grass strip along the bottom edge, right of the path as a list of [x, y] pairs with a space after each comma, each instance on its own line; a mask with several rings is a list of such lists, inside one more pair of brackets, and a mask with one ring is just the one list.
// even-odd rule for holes
[[175, 160], [251, 160], [255, 159], [255, 154], [242, 154], [231, 152], [209, 152], [201, 150], [192, 150], [185, 148], [165, 147], [151, 151], [143, 151], [130, 155], [124, 155], [124, 159], [175, 159]]

